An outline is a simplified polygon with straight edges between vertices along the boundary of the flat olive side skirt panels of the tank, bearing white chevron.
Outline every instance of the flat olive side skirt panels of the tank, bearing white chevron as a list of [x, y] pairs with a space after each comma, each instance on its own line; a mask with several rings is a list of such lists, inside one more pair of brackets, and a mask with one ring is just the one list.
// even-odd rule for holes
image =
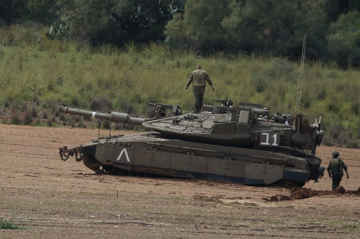
[[[154, 143], [152, 143], [154, 144]], [[158, 145], [159, 146], [159, 145]], [[110, 147], [110, 148], [109, 148]], [[112, 153], [111, 147], [116, 147], [115, 153]], [[173, 146], [172, 146], [173, 147]], [[100, 147], [102, 148], [102, 147]], [[201, 148], [186, 148], [188, 153], [174, 152], [156, 148], [143, 147], [118, 147], [108, 145], [107, 150], [101, 156], [100, 152], [96, 155], [98, 158], [108, 158], [109, 152], [113, 156], [112, 162], [108, 160], [106, 164], [113, 164], [129, 171], [137, 171], [141, 173], [159, 174], [167, 176], [175, 176], [180, 178], [200, 178], [211, 181], [230, 181], [245, 184], [270, 184], [283, 178], [283, 173], [287, 171], [286, 160], [279, 158], [270, 158], [264, 156], [240, 155], [242, 158], [233, 159], [231, 157], [224, 158], [214, 157], [199, 153], [203, 152]], [[181, 147], [184, 148], [184, 147]], [[114, 149], [114, 148], [113, 148]], [[126, 153], [123, 153], [125, 149]], [[197, 151], [194, 155], [189, 153]], [[102, 151], [102, 150], [100, 150]], [[205, 150], [213, 152], [212, 150]], [[121, 156], [122, 155], [122, 156]], [[239, 156], [239, 155], [238, 155]], [[246, 159], [247, 158], [247, 159]], [[253, 158], [251, 160], [251, 158]], [[274, 170], [275, 169], [275, 170]], [[309, 179], [307, 170], [298, 170], [298, 175], [291, 180]]]

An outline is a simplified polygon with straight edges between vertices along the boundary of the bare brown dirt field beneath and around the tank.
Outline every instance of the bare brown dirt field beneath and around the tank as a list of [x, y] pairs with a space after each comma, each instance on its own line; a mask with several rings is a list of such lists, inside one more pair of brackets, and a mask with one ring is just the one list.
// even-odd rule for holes
[[[100, 130], [100, 136], [106, 135]], [[0, 218], [23, 227], [0, 230], [1, 239], [360, 237], [359, 150], [318, 148], [322, 166], [332, 150], [348, 165], [350, 179], [341, 183], [345, 193], [327, 191], [327, 173], [320, 183], [311, 181], [291, 192], [96, 175], [75, 158], [60, 160], [59, 147], [97, 137], [97, 129], [0, 124]], [[303, 196], [309, 198], [296, 199]]]

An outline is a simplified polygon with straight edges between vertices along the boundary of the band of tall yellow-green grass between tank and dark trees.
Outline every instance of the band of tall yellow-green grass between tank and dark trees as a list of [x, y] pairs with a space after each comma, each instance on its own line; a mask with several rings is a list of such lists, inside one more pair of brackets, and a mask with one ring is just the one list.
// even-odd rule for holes
[[[272, 113], [293, 115], [298, 111], [300, 82], [299, 112], [310, 123], [321, 115], [325, 133], [348, 147], [356, 147], [353, 140], [360, 138], [356, 69], [344, 71], [306, 61], [299, 79], [300, 64], [285, 58], [224, 52], [204, 56], [156, 43], [129, 43], [123, 49], [92, 47], [86, 42], [46, 40], [41, 38], [45, 31], [36, 30], [37, 34], [19, 26], [0, 29], [1, 106], [29, 102], [49, 118], [59, 105], [150, 117], [148, 103], [159, 102], [180, 105], [188, 112], [193, 108], [192, 88], [184, 88], [190, 72], [200, 64], [215, 87], [214, 92], [207, 88], [204, 104], [231, 98], [235, 105], [253, 102], [271, 107]], [[41, 123], [34, 120], [32, 125]]]

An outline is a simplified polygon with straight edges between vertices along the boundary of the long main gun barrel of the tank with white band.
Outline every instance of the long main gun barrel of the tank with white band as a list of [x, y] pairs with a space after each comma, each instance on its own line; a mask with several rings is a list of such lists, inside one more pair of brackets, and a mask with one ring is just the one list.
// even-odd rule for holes
[[105, 114], [105, 113], [99, 113], [88, 110], [71, 109], [70, 107], [66, 107], [66, 106], [60, 106], [58, 111], [64, 114], [81, 115], [85, 117], [105, 119], [112, 122], [124, 123], [124, 124], [129, 123], [134, 125], [142, 125], [144, 122], [144, 119], [130, 117], [130, 115], [120, 112], [111, 112], [110, 114]]

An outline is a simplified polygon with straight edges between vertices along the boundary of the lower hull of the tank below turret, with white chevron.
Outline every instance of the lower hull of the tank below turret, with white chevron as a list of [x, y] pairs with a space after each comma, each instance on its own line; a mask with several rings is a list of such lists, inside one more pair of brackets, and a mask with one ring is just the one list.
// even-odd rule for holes
[[247, 185], [316, 180], [321, 159], [207, 143], [182, 141], [157, 132], [116, 135], [81, 145], [90, 169], [114, 175], [152, 174]]

